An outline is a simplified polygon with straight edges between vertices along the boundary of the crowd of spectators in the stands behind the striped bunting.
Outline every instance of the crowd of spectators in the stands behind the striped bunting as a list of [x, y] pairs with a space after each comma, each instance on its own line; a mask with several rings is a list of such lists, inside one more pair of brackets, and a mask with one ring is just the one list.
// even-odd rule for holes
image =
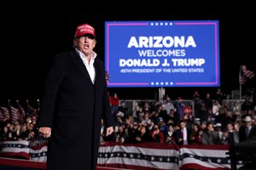
[[[232, 108], [223, 102], [221, 94], [201, 99], [195, 92], [193, 100], [195, 113], [183, 105], [183, 99], [153, 105], [144, 102], [128, 112], [120, 103], [116, 93], [109, 94], [110, 105], [115, 117], [114, 133], [105, 136], [102, 122], [101, 142], [167, 144], [237, 144], [256, 137], [256, 106], [249, 99], [237, 102]], [[136, 103], [137, 104], [137, 103]], [[13, 122], [11, 116], [4, 117], [1, 107], [0, 139], [29, 140], [42, 139], [37, 131], [37, 111], [26, 112], [26, 117]], [[10, 111], [11, 112], [11, 111]], [[6, 113], [5, 113], [6, 114]]]

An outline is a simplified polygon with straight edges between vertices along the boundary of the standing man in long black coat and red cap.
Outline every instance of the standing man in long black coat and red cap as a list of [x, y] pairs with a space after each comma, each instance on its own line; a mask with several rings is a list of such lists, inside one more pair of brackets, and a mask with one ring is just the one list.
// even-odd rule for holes
[[49, 138], [48, 170], [95, 170], [102, 120], [113, 133], [105, 69], [93, 51], [95, 30], [77, 27], [75, 50], [55, 55], [44, 84], [38, 130]]

